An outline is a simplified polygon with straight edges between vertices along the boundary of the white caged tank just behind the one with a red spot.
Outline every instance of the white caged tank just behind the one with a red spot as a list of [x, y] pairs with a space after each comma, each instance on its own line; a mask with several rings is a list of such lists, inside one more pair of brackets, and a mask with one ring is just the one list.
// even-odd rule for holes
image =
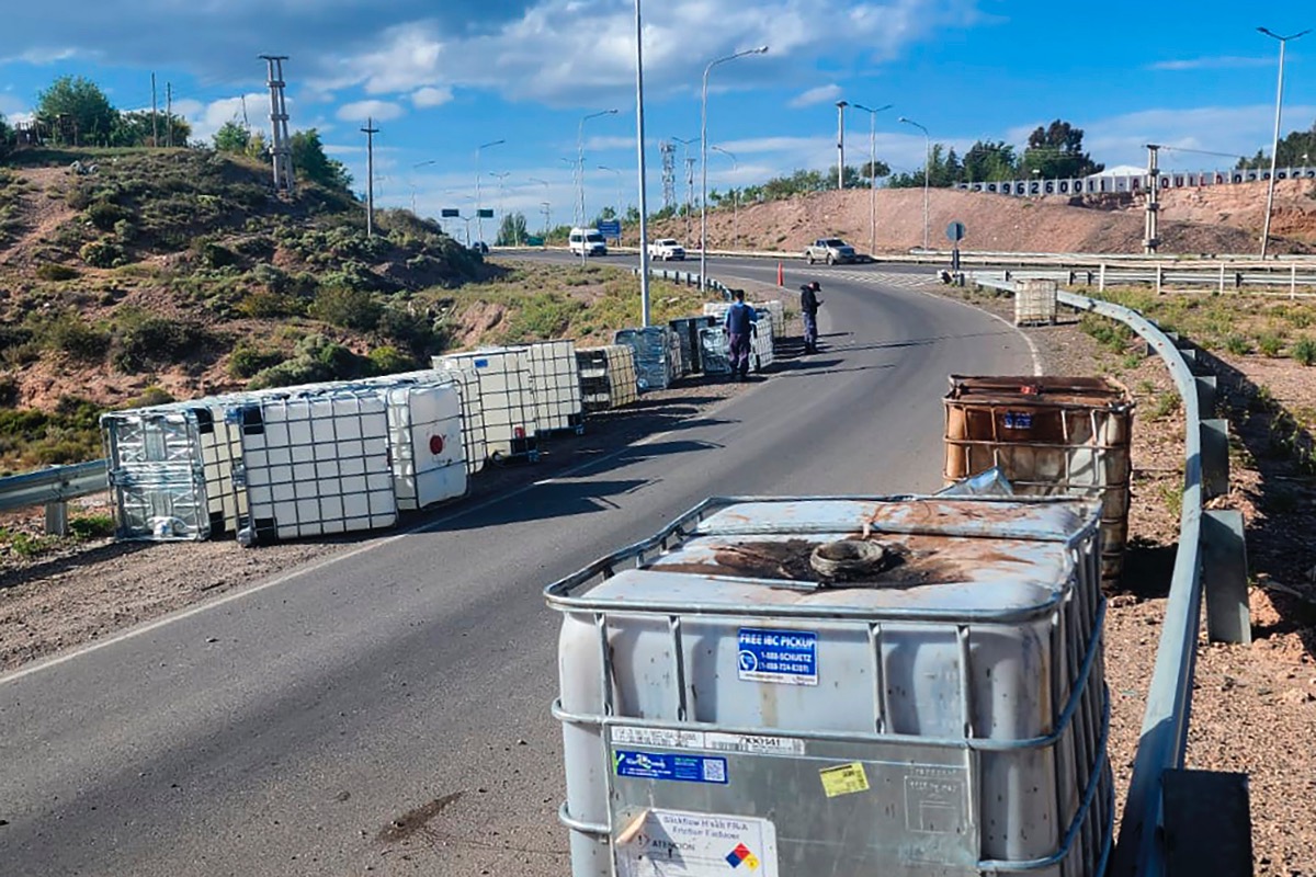
[[[475, 384], [484, 426], [484, 447], [495, 462], [540, 459], [534, 376], [525, 347], [488, 347], [433, 359], [434, 368], [466, 372]], [[471, 396], [471, 393], [467, 393]]]

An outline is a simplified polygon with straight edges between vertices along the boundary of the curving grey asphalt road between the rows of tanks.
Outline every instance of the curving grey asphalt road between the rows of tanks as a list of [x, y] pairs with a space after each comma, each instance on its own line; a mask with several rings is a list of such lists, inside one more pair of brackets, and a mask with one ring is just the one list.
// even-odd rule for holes
[[946, 375], [1033, 371], [987, 314], [828, 271], [822, 352], [701, 418], [0, 677], [0, 874], [566, 874], [541, 588], [711, 494], [936, 489]]

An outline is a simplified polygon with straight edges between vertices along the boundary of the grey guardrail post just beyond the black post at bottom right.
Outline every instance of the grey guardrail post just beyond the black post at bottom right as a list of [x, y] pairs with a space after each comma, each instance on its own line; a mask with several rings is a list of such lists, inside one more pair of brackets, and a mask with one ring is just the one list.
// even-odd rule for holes
[[1248, 542], [1241, 511], [1203, 511], [1202, 575], [1207, 596], [1207, 638], [1213, 643], [1250, 646]]

